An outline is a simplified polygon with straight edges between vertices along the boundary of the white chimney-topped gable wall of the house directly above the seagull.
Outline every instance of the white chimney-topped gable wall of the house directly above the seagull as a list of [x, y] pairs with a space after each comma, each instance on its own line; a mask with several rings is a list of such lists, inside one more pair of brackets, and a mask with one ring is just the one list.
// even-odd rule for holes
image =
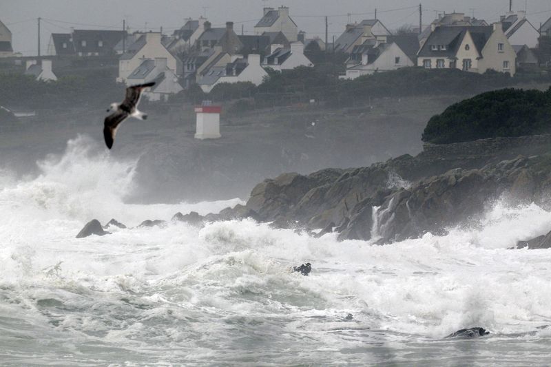
[[139, 50], [132, 59], [119, 60], [118, 61], [118, 81], [126, 81], [126, 78], [132, 74], [136, 67], [145, 59], [158, 59], [166, 58], [167, 67], [174, 73], [178, 73], [178, 61], [165, 46], [160, 43], [159, 32], [147, 32], [145, 33], [146, 43], [141, 50]]

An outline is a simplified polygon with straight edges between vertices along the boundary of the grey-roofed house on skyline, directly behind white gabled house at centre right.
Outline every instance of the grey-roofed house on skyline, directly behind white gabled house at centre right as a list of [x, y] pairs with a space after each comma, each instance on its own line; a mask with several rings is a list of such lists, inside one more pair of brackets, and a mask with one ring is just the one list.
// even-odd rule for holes
[[360, 23], [347, 24], [344, 33], [333, 44], [335, 52], [350, 54], [354, 46], [362, 45], [368, 39], [384, 41], [391, 32], [377, 19], [365, 19]]

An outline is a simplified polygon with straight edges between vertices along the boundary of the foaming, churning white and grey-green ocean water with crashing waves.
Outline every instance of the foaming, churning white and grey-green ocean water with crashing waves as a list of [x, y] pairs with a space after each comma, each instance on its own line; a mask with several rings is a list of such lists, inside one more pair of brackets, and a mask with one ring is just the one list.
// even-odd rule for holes
[[[508, 249], [551, 230], [537, 205], [495, 202], [470, 227], [387, 246], [251, 220], [76, 239], [92, 218], [242, 202], [126, 204], [136, 162], [98, 151], [79, 137], [39, 176], [0, 169], [3, 366], [551, 363], [551, 250]], [[304, 262], [310, 276], [291, 272]], [[444, 338], [474, 326], [491, 334]]]

